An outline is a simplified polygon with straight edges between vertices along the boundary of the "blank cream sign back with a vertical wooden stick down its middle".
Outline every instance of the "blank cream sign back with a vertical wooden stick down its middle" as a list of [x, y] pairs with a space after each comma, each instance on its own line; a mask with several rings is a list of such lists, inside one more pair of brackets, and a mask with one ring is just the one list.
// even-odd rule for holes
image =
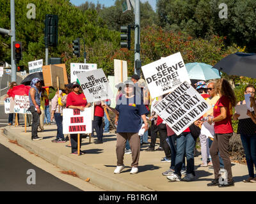
[[127, 80], [127, 61], [114, 59], [115, 85]]

